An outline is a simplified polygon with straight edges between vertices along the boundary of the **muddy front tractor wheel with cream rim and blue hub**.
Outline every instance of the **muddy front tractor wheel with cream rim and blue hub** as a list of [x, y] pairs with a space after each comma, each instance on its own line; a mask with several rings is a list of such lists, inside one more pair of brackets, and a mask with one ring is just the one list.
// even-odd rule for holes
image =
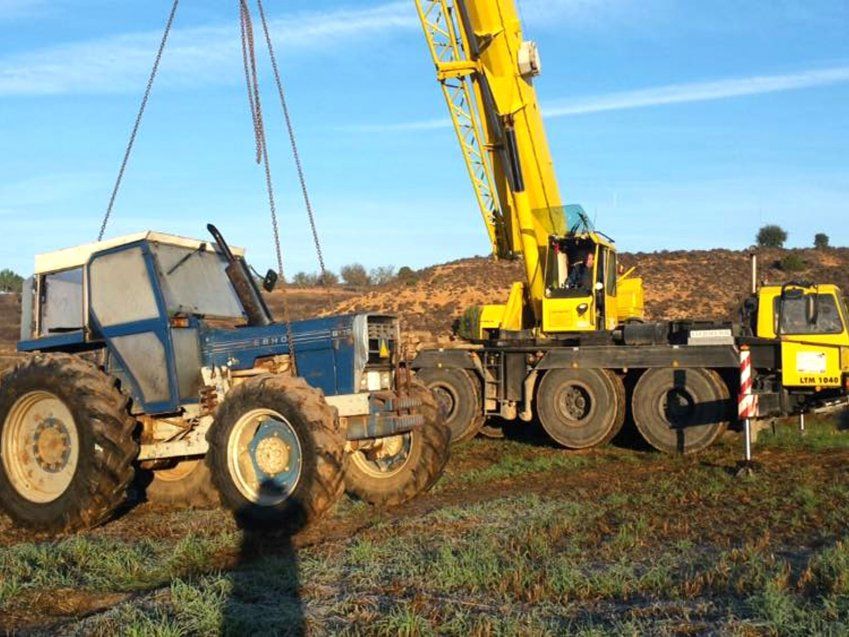
[[344, 491], [336, 411], [302, 378], [267, 374], [237, 386], [207, 440], [212, 480], [241, 526], [297, 532]]

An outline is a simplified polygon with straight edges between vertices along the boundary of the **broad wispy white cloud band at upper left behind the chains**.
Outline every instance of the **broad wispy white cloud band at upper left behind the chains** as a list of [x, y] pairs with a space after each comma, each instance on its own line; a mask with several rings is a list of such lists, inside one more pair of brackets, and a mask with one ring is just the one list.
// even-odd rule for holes
[[[10, 8], [25, 2], [0, 0]], [[417, 24], [409, 2], [391, 2], [366, 9], [289, 14], [271, 20], [269, 26], [274, 39], [292, 53], [327, 49], [386, 29], [412, 30]], [[129, 33], [0, 58], [0, 96], [137, 92], [150, 72], [161, 35]], [[238, 81], [240, 46], [235, 21], [227, 26], [177, 28], [162, 63], [161, 82], [184, 86]]]

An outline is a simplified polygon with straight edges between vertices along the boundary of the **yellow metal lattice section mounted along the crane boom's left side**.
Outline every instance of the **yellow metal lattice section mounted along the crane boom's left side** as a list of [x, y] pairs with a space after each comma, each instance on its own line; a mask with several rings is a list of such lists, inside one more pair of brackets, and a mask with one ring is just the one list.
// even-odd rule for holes
[[469, 46], [459, 23], [457, 6], [452, 0], [416, 0], [416, 7], [486, 224], [492, 253], [497, 257], [510, 257], [512, 252], [489, 152], [484, 143], [484, 127], [478, 115], [480, 110], [473, 101], [475, 92], [472, 83], [479, 70], [468, 54]]

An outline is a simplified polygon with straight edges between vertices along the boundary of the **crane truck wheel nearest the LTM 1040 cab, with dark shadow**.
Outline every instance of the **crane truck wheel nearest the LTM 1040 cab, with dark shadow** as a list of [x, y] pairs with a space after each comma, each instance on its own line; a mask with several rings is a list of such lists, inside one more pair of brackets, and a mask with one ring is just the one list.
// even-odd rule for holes
[[728, 427], [728, 386], [710, 369], [650, 369], [631, 398], [634, 424], [652, 447], [669, 454], [694, 454]]

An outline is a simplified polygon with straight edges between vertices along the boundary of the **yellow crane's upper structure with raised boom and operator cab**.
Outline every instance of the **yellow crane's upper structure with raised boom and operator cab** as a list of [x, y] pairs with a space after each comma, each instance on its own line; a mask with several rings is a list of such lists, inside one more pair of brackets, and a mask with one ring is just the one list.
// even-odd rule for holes
[[[467, 314], [466, 335], [612, 330], [642, 319], [642, 282], [619, 277], [613, 241], [580, 206], [563, 205], [533, 86], [540, 57], [522, 38], [513, 0], [416, 4], [492, 252], [525, 264], [506, 305]], [[569, 269], [588, 254], [585, 280], [570, 284]]]

